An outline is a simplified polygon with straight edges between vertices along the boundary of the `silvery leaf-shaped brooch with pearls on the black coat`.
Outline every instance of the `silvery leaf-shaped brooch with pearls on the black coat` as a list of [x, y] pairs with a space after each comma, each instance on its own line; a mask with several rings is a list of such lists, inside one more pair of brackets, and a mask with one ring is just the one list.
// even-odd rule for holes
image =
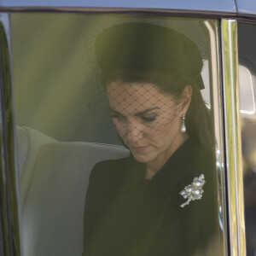
[[204, 190], [203, 185], [206, 183], [205, 176], [201, 174], [200, 177], [195, 177], [193, 183], [186, 186], [179, 194], [183, 196], [184, 199], [188, 201], [184, 202], [180, 207], [185, 207], [189, 205], [190, 201], [201, 200]]

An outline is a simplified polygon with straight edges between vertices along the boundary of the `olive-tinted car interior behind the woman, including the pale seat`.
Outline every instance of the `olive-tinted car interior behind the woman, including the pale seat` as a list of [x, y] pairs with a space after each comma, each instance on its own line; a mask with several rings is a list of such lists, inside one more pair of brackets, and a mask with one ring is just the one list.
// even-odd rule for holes
[[[90, 171], [101, 160], [130, 155], [109, 117], [93, 45], [104, 28], [137, 20], [170, 26], [195, 40], [205, 60], [202, 95], [211, 108], [208, 38], [202, 20], [149, 15], [10, 15], [16, 163], [26, 256], [81, 255]], [[247, 59], [241, 54], [241, 60]], [[248, 70], [250, 61], [241, 62]], [[252, 94], [255, 84], [247, 85], [241, 88]], [[245, 109], [251, 109], [254, 95]], [[247, 122], [247, 113], [243, 118]]]

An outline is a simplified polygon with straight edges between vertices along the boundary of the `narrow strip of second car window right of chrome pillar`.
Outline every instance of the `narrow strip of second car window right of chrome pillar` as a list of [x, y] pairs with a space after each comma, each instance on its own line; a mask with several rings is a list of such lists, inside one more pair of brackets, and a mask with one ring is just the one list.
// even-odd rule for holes
[[247, 256], [256, 255], [256, 26], [239, 24], [239, 89]]

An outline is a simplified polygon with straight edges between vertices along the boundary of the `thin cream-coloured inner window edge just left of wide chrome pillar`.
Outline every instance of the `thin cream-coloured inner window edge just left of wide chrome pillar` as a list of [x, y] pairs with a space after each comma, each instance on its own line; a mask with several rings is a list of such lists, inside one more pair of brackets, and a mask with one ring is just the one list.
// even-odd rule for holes
[[219, 60], [219, 23], [216, 20], [206, 20], [210, 37], [210, 78], [211, 78], [211, 105], [214, 119], [214, 132], [216, 140], [216, 177], [218, 185], [218, 223], [222, 233], [219, 240], [222, 244], [223, 255], [228, 255], [228, 230], [227, 230], [227, 208], [226, 208], [226, 188], [224, 170], [224, 131], [223, 131], [223, 101], [220, 81], [220, 60]]

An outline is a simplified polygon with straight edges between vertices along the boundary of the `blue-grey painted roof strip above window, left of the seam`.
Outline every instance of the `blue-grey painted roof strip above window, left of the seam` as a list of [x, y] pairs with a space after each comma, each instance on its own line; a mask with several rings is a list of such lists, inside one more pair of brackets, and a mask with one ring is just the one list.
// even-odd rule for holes
[[144, 0], [2, 0], [0, 7], [3, 9], [84, 9], [84, 8], [130, 8], [130, 9], [186, 9], [186, 10], [201, 10], [201, 11], [218, 11], [225, 13], [236, 14], [236, 0], [216, 0], [205, 1], [201, 4], [200, 1], [183, 0], [159, 0], [159, 1], [144, 1]]

